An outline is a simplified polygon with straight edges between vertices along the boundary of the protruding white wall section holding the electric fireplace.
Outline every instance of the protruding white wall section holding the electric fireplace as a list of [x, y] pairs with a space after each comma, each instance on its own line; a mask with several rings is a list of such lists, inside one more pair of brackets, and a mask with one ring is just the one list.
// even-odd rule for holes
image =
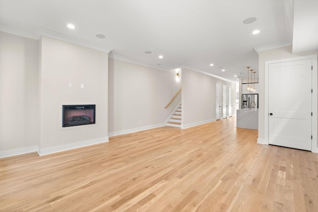
[[[108, 141], [108, 53], [45, 36], [40, 45], [39, 153]], [[96, 124], [62, 128], [67, 104], [95, 104]]]

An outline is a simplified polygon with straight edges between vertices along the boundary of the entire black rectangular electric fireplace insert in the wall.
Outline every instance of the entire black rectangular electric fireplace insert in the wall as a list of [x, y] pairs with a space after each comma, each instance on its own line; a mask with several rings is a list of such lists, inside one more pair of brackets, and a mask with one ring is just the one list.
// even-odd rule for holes
[[95, 124], [95, 105], [63, 105], [62, 127]]

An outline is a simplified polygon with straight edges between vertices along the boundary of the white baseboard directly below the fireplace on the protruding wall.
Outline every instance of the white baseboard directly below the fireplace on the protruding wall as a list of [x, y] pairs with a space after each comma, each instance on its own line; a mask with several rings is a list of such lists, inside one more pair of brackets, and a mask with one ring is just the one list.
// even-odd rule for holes
[[107, 141], [108, 141], [108, 137], [100, 138], [100, 139], [93, 139], [93, 140], [89, 140], [89, 141], [81, 141], [81, 142], [77, 142], [77, 143], [70, 143], [70, 144], [61, 145], [61, 146], [54, 146], [54, 147], [50, 147], [50, 148], [39, 149], [38, 153], [40, 156], [42, 156], [42, 155], [46, 155], [46, 154], [52, 154], [52, 153], [56, 153], [56, 152], [60, 152], [60, 151], [75, 149], [75, 148], [89, 146], [89, 145], [93, 145], [93, 144], [97, 144], [97, 143], [103, 143], [103, 142], [107, 142]]

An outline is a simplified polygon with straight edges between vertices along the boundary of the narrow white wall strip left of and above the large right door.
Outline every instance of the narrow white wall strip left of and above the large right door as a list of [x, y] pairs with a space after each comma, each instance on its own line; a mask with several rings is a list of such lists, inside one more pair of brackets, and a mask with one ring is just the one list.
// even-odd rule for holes
[[[299, 56], [318, 54], [316, 52], [307, 52], [302, 54], [292, 54], [292, 46], [271, 49], [259, 52], [259, 92], [258, 92], [258, 140], [265, 139], [264, 130], [264, 86], [265, 86], [265, 62], [273, 60], [281, 60], [287, 58], [294, 58]], [[261, 142], [262, 143], [262, 142]]]

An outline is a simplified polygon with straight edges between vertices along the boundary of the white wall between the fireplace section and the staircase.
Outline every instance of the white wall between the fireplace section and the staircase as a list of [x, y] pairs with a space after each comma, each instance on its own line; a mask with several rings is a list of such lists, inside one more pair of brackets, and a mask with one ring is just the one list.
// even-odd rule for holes
[[164, 126], [181, 100], [164, 107], [181, 87], [176, 71], [161, 71], [109, 58], [109, 136]]

